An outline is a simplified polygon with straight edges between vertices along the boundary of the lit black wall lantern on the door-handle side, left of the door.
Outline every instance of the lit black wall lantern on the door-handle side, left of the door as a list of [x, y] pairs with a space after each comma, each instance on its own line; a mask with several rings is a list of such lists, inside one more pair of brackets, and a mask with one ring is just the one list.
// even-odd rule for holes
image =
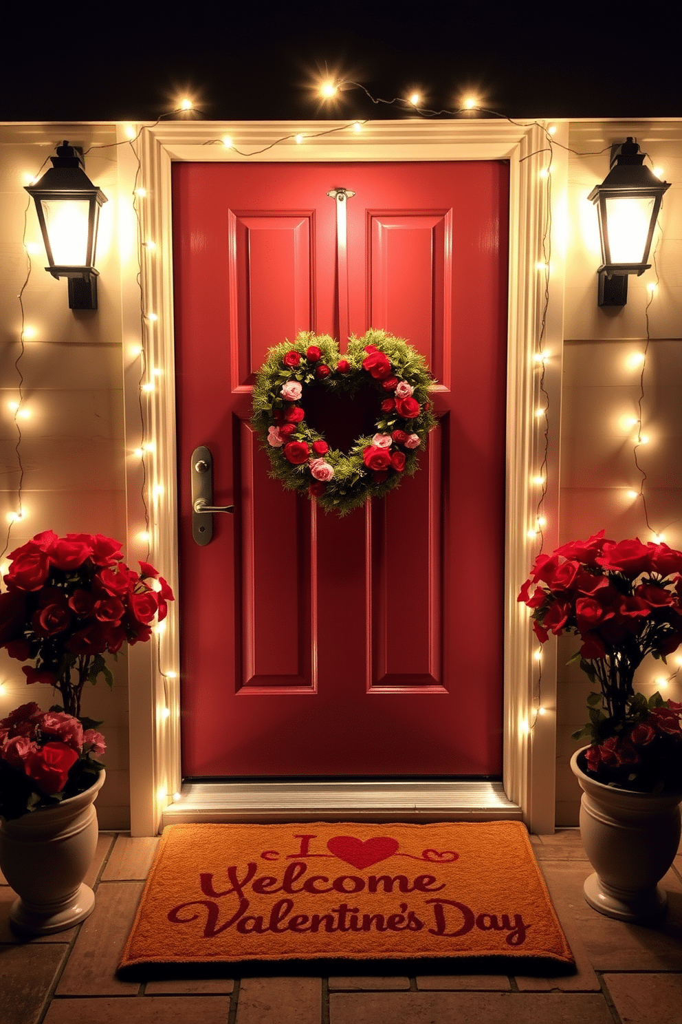
[[40, 229], [53, 278], [69, 279], [71, 309], [97, 308], [95, 246], [99, 208], [106, 196], [85, 173], [83, 151], [64, 140], [52, 167], [40, 181], [27, 185], [36, 201]]

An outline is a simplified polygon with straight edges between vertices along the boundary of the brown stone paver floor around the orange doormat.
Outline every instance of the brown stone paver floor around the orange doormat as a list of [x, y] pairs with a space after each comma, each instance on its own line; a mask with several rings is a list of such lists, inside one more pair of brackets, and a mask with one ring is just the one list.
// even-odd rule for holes
[[[95, 909], [81, 926], [22, 941], [11, 931], [14, 894], [0, 876], [2, 1024], [679, 1024], [682, 1020], [682, 848], [663, 885], [666, 920], [624, 925], [592, 910], [591, 868], [578, 829], [532, 837], [578, 972], [514, 975], [240, 977], [120, 980], [116, 968], [156, 839], [102, 833], [88, 883]], [[352, 969], [349, 965], [349, 971]], [[220, 976], [221, 973], [224, 976]]]

